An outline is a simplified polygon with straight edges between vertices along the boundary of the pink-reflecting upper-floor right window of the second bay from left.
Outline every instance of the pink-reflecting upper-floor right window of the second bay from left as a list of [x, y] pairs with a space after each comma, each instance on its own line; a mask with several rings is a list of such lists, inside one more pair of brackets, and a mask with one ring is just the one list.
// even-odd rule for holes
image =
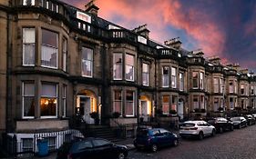
[[126, 55], [126, 80], [134, 81], [134, 55]]

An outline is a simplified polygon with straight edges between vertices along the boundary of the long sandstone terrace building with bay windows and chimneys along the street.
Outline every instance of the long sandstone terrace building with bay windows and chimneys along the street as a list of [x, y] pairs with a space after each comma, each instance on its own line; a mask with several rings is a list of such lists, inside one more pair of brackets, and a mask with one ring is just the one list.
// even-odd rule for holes
[[97, 10], [0, 0], [1, 134], [22, 142], [66, 132], [76, 114], [94, 124], [92, 112], [103, 125], [114, 112], [119, 124], [136, 125], [174, 111], [182, 119], [255, 108], [256, 78], [247, 69], [186, 51], [179, 38], [155, 42], [147, 25], [128, 30]]

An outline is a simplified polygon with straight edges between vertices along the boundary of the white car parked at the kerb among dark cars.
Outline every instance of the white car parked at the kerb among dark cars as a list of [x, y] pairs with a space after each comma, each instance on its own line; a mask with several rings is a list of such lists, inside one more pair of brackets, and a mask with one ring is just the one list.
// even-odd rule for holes
[[215, 135], [216, 129], [205, 121], [187, 121], [181, 124], [179, 135], [182, 138], [197, 136], [200, 140], [206, 135]]

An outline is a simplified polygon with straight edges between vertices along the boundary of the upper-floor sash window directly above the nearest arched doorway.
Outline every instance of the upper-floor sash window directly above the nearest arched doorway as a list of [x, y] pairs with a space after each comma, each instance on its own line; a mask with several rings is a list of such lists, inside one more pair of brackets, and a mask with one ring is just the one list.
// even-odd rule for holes
[[82, 75], [86, 77], [93, 75], [93, 50], [87, 47], [82, 48]]

